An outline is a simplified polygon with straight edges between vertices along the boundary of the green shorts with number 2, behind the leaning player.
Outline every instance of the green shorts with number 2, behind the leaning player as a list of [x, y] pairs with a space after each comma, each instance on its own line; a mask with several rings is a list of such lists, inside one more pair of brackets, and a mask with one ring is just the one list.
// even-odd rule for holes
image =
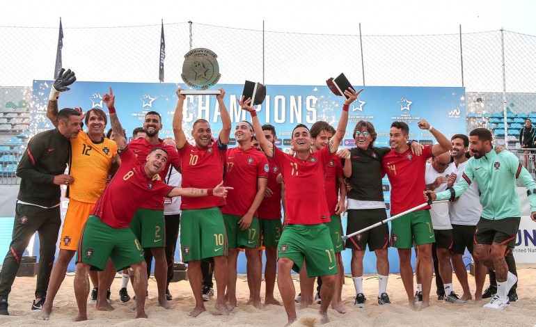
[[130, 229], [141, 241], [142, 248], [166, 246], [166, 223], [162, 210], [139, 208], [132, 218]]

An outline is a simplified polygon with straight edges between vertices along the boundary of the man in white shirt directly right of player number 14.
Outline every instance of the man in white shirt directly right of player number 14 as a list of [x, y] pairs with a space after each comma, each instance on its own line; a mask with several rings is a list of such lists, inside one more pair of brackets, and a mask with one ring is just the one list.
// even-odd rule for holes
[[[450, 160], [448, 152], [432, 157], [432, 163], [426, 165], [425, 182], [427, 189], [439, 193], [456, 182], [456, 174], [452, 173], [451, 170], [447, 171]], [[432, 244], [432, 259], [436, 271], [437, 299], [450, 303], [464, 303], [452, 289], [450, 251], [454, 239], [448, 214], [448, 203], [434, 203], [430, 208], [430, 216], [436, 237], [436, 243]]]

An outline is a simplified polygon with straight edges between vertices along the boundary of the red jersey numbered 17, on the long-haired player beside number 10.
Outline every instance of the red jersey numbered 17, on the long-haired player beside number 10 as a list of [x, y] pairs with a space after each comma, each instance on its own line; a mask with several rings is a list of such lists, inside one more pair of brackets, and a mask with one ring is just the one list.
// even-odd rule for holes
[[227, 196], [227, 205], [221, 213], [244, 216], [257, 195], [257, 179], [268, 178], [268, 160], [264, 153], [250, 147], [228, 149], [225, 156], [225, 186], [234, 189]]

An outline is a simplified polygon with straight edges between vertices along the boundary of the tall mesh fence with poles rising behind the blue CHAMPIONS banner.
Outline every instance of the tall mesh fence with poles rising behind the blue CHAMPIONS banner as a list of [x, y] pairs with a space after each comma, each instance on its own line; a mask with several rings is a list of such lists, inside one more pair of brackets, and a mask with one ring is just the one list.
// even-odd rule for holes
[[[249, 79], [267, 85], [324, 85], [345, 72], [356, 86], [464, 86], [468, 130], [488, 127], [497, 143], [510, 147], [519, 138], [521, 120], [536, 122], [535, 35], [462, 33], [462, 27], [443, 35], [360, 31], [356, 26], [347, 35], [328, 35], [164, 24], [165, 81], [182, 83], [184, 54], [206, 47], [219, 56], [219, 83]], [[63, 35], [63, 67], [75, 70], [80, 81], [159, 81], [160, 22], [111, 28], [64, 24]], [[15, 96], [0, 94], [2, 119], [10, 110], [4, 104], [30, 103], [33, 79], [54, 78], [58, 29], [0, 26], [0, 39], [0, 86], [22, 86]], [[12, 129], [19, 125], [10, 122]], [[13, 137], [0, 131], [0, 146]]]

